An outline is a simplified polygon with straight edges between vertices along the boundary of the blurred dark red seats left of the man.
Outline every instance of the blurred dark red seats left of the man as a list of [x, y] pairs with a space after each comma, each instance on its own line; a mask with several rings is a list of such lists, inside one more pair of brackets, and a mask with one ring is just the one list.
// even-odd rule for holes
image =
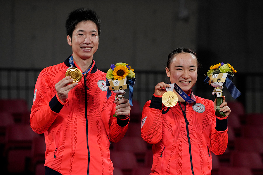
[[27, 102], [24, 99], [0, 99], [0, 106], [2, 173], [45, 174], [44, 135], [39, 135], [31, 129]]

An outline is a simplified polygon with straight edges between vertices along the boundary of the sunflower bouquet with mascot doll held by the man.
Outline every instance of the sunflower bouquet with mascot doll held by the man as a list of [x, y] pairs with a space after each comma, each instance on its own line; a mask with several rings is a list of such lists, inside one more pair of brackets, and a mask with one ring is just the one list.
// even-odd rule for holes
[[[124, 90], [129, 88], [129, 103], [132, 106], [133, 86], [135, 83], [134, 69], [126, 63], [116, 63], [110, 66], [106, 74], [106, 83], [108, 86], [107, 99], [111, 96], [111, 91], [116, 93], [115, 100], [121, 100], [124, 97]], [[119, 117], [116, 114], [113, 117]]]

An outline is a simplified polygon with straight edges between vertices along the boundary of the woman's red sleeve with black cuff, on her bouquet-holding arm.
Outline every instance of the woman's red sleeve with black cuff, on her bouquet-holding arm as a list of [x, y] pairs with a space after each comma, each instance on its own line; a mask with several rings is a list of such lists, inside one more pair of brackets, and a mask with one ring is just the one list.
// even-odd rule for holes
[[227, 117], [218, 118], [214, 115], [214, 110], [210, 113], [212, 117], [210, 147], [215, 155], [221, 155], [225, 152], [228, 143]]

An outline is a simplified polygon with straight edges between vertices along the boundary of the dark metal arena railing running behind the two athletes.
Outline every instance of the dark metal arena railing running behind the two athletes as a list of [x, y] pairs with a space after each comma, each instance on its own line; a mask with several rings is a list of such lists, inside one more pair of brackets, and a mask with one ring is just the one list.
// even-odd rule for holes
[[[0, 99], [25, 99], [31, 108], [34, 97], [34, 86], [42, 69], [0, 68]], [[104, 70], [106, 72], [107, 70]], [[168, 82], [165, 71], [139, 71], [135, 70], [136, 82], [133, 99], [139, 101], [141, 106], [150, 100], [157, 83]], [[213, 87], [203, 83], [203, 75], [193, 88], [195, 95], [214, 100]], [[247, 113], [263, 112], [263, 74], [235, 74], [233, 83], [242, 93], [236, 100], [244, 104]], [[126, 90], [128, 94], [128, 90]], [[227, 101], [235, 101], [228, 90], [223, 90]]]

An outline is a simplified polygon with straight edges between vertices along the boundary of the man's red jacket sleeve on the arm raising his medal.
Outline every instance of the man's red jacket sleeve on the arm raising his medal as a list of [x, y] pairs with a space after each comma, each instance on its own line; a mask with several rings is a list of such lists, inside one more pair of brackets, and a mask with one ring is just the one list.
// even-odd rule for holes
[[37, 78], [34, 101], [30, 114], [30, 126], [38, 134], [44, 133], [54, 122], [64, 104], [56, 96], [55, 86], [42, 70]]

